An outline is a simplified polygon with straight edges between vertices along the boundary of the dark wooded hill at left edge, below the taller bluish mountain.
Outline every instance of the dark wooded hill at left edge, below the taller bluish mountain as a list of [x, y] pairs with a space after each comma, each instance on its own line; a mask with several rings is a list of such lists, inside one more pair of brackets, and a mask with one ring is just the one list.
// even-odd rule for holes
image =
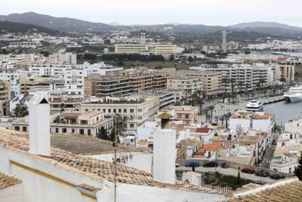
[[27, 31], [30, 31], [33, 29], [35, 29], [36, 32], [48, 33], [51, 35], [58, 33], [58, 31], [54, 31], [49, 28], [44, 28], [44, 27], [36, 26], [36, 25], [32, 25], [32, 24], [0, 21], [0, 30], [1, 31], [9, 31], [11, 33], [26, 33]]

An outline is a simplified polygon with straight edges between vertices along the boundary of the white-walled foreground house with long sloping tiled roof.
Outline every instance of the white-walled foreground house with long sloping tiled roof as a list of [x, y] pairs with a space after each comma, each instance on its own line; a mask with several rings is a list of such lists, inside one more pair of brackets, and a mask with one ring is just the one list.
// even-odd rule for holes
[[[30, 154], [28, 149], [33, 151], [35, 145], [29, 145], [28, 138], [7, 129], [0, 129], [0, 133], [0, 171], [23, 182], [24, 202], [114, 201], [114, 164], [111, 162], [55, 147], [51, 151], [45, 147], [50, 152], [48, 156], [39, 155], [41, 151]], [[38, 135], [44, 144], [48, 142], [45, 134]], [[117, 164], [117, 202], [226, 200], [222, 193], [210, 188], [176, 181], [173, 136], [173, 131], [158, 134], [153, 174]]]

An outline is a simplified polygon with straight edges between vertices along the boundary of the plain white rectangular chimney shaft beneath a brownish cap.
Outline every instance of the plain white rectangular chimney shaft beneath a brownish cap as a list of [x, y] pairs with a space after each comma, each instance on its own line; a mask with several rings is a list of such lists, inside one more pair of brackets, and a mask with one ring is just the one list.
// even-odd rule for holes
[[153, 132], [153, 180], [167, 184], [176, 181], [176, 130]]

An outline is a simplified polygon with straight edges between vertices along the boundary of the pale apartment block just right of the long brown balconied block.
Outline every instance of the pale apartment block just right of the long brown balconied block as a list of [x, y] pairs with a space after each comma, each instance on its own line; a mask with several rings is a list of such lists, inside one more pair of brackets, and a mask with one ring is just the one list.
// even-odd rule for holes
[[171, 77], [167, 80], [168, 90], [187, 90], [191, 93], [203, 90], [203, 83], [200, 78], [191, 78], [186, 76]]

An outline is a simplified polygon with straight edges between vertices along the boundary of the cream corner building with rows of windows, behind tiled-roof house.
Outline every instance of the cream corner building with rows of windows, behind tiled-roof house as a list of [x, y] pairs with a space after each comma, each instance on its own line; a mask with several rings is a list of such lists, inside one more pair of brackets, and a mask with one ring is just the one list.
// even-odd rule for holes
[[128, 134], [135, 134], [137, 127], [149, 119], [149, 115], [153, 114], [154, 110], [157, 112], [158, 107], [158, 97], [146, 100], [134, 97], [104, 97], [85, 100], [81, 105], [81, 111], [100, 110], [109, 117], [120, 115], [123, 120], [124, 131]]

